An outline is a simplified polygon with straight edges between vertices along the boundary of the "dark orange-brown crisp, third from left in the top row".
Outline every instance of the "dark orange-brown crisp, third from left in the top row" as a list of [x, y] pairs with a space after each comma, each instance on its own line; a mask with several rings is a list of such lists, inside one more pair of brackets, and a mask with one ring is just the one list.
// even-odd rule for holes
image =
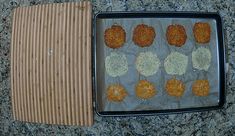
[[166, 31], [166, 38], [170, 45], [181, 47], [185, 44], [187, 35], [182, 25], [169, 25]]

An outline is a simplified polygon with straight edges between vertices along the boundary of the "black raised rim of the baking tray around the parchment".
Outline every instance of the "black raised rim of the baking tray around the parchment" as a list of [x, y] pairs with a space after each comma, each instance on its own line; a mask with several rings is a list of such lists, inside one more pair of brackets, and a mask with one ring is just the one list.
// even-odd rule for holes
[[[218, 68], [219, 68], [219, 102], [215, 106], [192, 107], [182, 109], [164, 109], [164, 110], [142, 110], [142, 111], [98, 111], [98, 95], [97, 95], [97, 62], [96, 62], [96, 21], [99, 18], [206, 18], [215, 19], [217, 28], [218, 40]], [[185, 113], [185, 112], [202, 112], [209, 110], [222, 109], [225, 104], [226, 91], [226, 73], [225, 73], [225, 47], [224, 47], [224, 30], [223, 22], [218, 12], [98, 12], [93, 18], [93, 48], [92, 48], [92, 88], [93, 88], [93, 107], [94, 111], [99, 116], [143, 116], [156, 114], [170, 113]]]

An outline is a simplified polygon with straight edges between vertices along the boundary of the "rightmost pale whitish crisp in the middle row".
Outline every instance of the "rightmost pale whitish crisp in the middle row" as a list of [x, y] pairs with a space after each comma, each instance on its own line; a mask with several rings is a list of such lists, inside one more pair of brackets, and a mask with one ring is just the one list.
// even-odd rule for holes
[[200, 47], [192, 52], [193, 67], [199, 70], [208, 70], [211, 63], [211, 52], [209, 49]]

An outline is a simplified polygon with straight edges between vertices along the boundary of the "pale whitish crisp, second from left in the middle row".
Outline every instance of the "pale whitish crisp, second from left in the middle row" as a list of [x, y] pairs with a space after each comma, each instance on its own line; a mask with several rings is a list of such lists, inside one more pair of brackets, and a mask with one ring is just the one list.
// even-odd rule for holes
[[136, 69], [141, 75], [151, 76], [157, 73], [160, 66], [160, 60], [152, 52], [142, 52], [136, 58]]

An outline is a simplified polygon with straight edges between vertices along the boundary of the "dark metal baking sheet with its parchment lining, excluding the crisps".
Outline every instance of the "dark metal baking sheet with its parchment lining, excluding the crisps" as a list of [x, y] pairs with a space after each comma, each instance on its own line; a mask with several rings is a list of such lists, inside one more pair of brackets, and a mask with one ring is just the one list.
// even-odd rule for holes
[[[195, 22], [208, 22], [211, 26], [211, 40], [207, 47], [212, 54], [211, 66], [208, 72], [192, 68], [191, 53], [198, 46], [194, 42], [192, 26]], [[224, 103], [224, 46], [222, 34], [222, 21], [216, 13], [99, 13], [95, 16], [94, 32], [94, 91], [96, 94], [96, 111], [100, 115], [132, 115], [153, 114], [180, 111], [194, 111], [203, 109], [216, 109]], [[136, 25], [147, 24], [153, 26], [156, 37], [153, 45], [140, 48], [132, 42], [132, 32]], [[110, 49], [104, 43], [104, 30], [112, 24], [121, 25], [126, 31], [126, 43], [120, 49]], [[186, 45], [181, 48], [169, 47], [165, 38], [166, 27], [170, 24], [181, 24], [187, 33]], [[218, 38], [220, 37], [220, 38]], [[158, 47], [158, 48], [156, 48]], [[216, 48], [214, 48], [216, 47]], [[151, 77], [142, 77], [135, 69], [135, 58], [139, 52], [155, 52], [160, 61], [160, 71]], [[186, 74], [176, 76], [185, 83], [185, 94], [181, 98], [168, 96], [164, 85], [172, 75], [168, 75], [163, 67], [163, 61], [169, 52], [178, 51], [188, 56], [189, 64]], [[124, 76], [112, 78], [105, 72], [105, 57], [111, 52], [122, 52], [128, 58], [128, 73]], [[134, 55], [133, 55], [134, 54]], [[130, 62], [130, 63], [129, 63]], [[210, 95], [196, 97], [191, 93], [192, 82], [196, 79], [208, 78], [211, 88]], [[154, 83], [157, 95], [149, 100], [136, 98], [134, 86], [139, 79], [147, 79]], [[111, 83], [121, 83], [127, 90], [128, 96], [123, 102], [109, 102], [106, 98], [106, 88]]]

